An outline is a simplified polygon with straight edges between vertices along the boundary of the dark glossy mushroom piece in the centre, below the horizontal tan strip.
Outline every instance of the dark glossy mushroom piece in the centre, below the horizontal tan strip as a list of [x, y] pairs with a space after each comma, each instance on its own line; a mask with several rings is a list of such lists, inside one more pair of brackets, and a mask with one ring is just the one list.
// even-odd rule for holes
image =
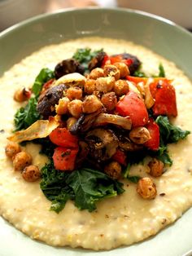
[[90, 130], [85, 136], [90, 148], [90, 156], [98, 161], [107, 161], [116, 152], [118, 139], [111, 130], [97, 128]]

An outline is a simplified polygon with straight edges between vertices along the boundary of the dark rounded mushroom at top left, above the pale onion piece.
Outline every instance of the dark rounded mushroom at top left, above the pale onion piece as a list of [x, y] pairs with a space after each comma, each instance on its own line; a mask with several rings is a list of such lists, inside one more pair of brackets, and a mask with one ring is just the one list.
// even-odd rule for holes
[[66, 75], [68, 73], [83, 74], [84, 72], [85, 68], [77, 60], [74, 59], [63, 60], [55, 66], [56, 79], [59, 79], [59, 77], [63, 77], [63, 75]]

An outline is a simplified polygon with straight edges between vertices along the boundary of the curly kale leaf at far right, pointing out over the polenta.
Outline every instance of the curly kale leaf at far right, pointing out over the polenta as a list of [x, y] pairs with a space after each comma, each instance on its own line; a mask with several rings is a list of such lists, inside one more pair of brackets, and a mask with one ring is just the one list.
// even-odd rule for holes
[[159, 116], [155, 121], [159, 125], [160, 139], [164, 144], [176, 143], [190, 134], [189, 130], [181, 130], [179, 126], [170, 124], [168, 117]]

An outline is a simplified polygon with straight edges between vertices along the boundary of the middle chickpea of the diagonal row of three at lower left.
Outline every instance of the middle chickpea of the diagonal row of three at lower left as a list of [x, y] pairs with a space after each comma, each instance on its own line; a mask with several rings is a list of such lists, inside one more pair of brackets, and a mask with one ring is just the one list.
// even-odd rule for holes
[[14, 170], [24, 170], [24, 167], [31, 165], [32, 157], [27, 152], [19, 152], [13, 157]]

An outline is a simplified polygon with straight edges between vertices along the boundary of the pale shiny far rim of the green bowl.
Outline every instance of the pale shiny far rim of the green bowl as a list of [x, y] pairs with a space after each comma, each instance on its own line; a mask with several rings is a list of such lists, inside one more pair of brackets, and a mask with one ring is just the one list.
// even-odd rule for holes
[[181, 25], [176, 24], [172, 20], [168, 20], [162, 16], [155, 15], [150, 12], [140, 11], [140, 10], [130, 9], [130, 8], [123, 8], [123, 7], [111, 7], [111, 8], [110, 7], [83, 7], [83, 8], [70, 7], [70, 8], [59, 9], [56, 11], [46, 12], [46, 13], [43, 13], [40, 15], [35, 15], [31, 18], [28, 18], [27, 20], [22, 20], [19, 23], [13, 24], [13, 25], [11, 25], [11, 27], [2, 30], [2, 32], [0, 32], [0, 39], [6, 37], [7, 34], [11, 33], [13, 30], [20, 29], [27, 24], [35, 23], [39, 20], [47, 19], [48, 17], [54, 16], [54, 15], [59, 15], [59, 14], [65, 13], [65, 12], [84, 12], [87, 10], [89, 10], [89, 11], [106, 11], [106, 12], [113, 11], [115, 13], [116, 12], [124, 12], [124, 13], [128, 13], [128, 14], [132, 13], [135, 15], [141, 15], [141, 16], [149, 18], [151, 20], [158, 20], [161, 23], [168, 24], [169, 26], [172, 26], [172, 27], [176, 28], [177, 30], [181, 31], [181, 33], [185, 33], [192, 39], [192, 33], [190, 33], [190, 31], [183, 28]]

